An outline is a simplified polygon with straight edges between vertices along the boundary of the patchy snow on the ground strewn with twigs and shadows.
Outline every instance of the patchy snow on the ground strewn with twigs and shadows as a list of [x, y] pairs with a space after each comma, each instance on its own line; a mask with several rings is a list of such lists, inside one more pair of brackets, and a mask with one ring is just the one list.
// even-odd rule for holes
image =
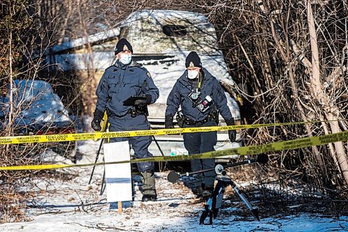
[[[84, 154], [80, 162], [94, 162], [98, 145], [99, 141], [80, 141], [79, 152]], [[260, 212], [261, 221], [258, 222], [242, 209], [242, 203], [230, 200], [223, 201], [225, 206], [213, 225], [199, 225], [205, 202], [195, 199], [182, 181], [169, 183], [168, 172], [156, 173], [159, 195], [156, 202], [141, 202], [140, 178], [134, 176], [135, 199], [124, 203], [119, 213], [117, 203], [106, 202], [105, 191], [100, 196], [104, 167], [96, 167], [90, 185], [92, 167], [61, 171], [78, 175], [72, 180], [35, 180], [31, 190], [35, 196], [27, 204], [30, 221], [0, 224], [0, 231], [348, 231], [348, 217], [343, 216], [262, 217]]]

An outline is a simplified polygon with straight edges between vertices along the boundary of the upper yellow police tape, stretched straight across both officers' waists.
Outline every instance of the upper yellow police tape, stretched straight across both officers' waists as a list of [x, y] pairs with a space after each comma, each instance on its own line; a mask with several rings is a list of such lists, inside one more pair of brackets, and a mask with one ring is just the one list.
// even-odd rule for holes
[[322, 123], [330, 121], [308, 121], [308, 122], [294, 122], [294, 123], [269, 123], [269, 124], [252, 124], [252, 125], [226, 125], [213, 127], [187, 127], [187, 128], [173, 128], [173, 129], [159, 129], [159, 130], [136, 130], [136, 131], [122, 131], [122, 132], [97, 132], [97, 133], [79, 133], [79, 134], [50, 134], [50, 135], [26, 135], [14, 137], [0, 137], [0, 145], [2, 144], [31, 144], [31, 143], [46, 143], [57, 141], [79, 141], [89, 139], [106, 139], [106, 138], [120, 138], [120, 137], [135, 137], [135, 136], [152, 136], [152, 135], [166, 135], [166, 134], [181, 134], [192, 132], [211, 132], [218, 130], [236, 130], [236, 129], [250, 129], [257, 127], [271, 127], [278, 125], [299, 125], [304, 123]]

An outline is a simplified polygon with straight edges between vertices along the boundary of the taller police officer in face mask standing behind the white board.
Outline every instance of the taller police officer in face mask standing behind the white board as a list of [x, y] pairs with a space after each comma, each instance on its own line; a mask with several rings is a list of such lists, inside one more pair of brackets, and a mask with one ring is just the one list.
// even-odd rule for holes
[[[147, 105], [154, 103], [159, 97], [148, 70], [141, 64], [132, 61], [132, 45], [122, 38], [115, 47], [117, 61], [106, 68], [97, 87], [97, 105], [91, 123], [93, 130], [100, 131], [100, 121], [106, 111], [109, 118], [109, 131], [148, 130]], [[137, 96], [132, 105], [125, 104], [129, 97]], [[126, 101], [127, 102], [127, 101]], [[151, 137], [111, 138], [110, 142], [129, 141], [134, 150], [134, 157], [152, 157], [148, 152]], [[153, 162], [138, 163], [143, 180], [142, 201], [155, 201], [155, 176]]]

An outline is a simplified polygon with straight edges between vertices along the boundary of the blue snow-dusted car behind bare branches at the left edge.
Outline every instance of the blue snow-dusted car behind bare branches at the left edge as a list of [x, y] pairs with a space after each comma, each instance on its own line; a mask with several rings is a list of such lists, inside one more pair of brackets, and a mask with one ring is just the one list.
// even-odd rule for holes
[[[9, 125], [10, 88], [0, 96], [1, 127]], [[13, 127], [15, 135], [68, 134], [74, 133], [74, 123], [61, 99], [52, 86], [41, 80], [19, 80], [13, 82]], [[51, 148], [65, 157], [74, 158], [75, 142], [42, 143], [36, 149]]]

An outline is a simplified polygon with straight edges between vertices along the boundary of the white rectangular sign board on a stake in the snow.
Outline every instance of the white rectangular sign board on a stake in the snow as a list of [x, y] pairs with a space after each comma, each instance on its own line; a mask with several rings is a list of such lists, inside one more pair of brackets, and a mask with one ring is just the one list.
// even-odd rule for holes
[[[128, 141], [104, 144], [105, 162], [130, 160]], [[106, 164], [106, 201], [132, 201], [131, 164]]]

